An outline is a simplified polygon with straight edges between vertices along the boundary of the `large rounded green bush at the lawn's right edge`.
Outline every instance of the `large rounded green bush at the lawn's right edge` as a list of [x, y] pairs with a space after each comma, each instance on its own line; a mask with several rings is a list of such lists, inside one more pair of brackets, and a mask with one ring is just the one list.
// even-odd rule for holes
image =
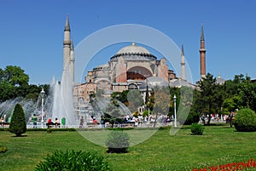
[[233, 124], [237, 131], [256, 131], [256, 114], [251, 109], [241, 109], [240, 111], [237, 111]]

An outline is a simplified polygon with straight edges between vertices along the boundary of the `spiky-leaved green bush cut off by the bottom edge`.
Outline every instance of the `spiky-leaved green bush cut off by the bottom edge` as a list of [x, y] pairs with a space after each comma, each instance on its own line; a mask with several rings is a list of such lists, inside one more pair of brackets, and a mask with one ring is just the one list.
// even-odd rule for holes
[[106, 157], [96, 152], [84, 151], [54, 151], [52, 155], [39, 162], [36, 171], [104, 171], [110, 170]]

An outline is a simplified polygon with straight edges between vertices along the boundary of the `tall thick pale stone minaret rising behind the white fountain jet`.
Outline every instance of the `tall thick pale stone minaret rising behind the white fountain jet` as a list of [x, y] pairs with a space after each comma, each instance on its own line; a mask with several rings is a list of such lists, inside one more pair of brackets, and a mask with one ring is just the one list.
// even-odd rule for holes
[[67, 15], [67, 20], [64, 29], [64, 41], [63, 41], [63, 71], [68, 71], [69, 63], [70, 63], [70, 48], [71, 48], [71, 41], [70, 41], [70, 26], [69, 20]]

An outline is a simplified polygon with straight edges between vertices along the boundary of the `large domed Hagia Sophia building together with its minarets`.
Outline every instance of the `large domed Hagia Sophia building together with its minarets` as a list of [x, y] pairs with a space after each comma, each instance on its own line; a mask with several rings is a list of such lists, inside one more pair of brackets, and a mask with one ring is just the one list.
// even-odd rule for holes
[[[71, 30], [67, 16], [63, 41], [63, 71], [71, 71], [72, 81], [74, 82], [74, 48], [70, 33]], [[204, 31], [203, 26], [201, 26], [199, 50], [201, 78], [206, 77], [206, 52]], [[84, 77], [84, 83], [74, 83], [74, 103], [89, 102], [90, 94], [95, 94], [97, 89], [102, 89], [104, 96], [127, 89], [140, 90], [145, 87], [145, 80], [148, 77], [160, 77], [170, 87], [186, 85], [196, 88], [197, 85], [186, 81], [183, 45], [181, 48], [180, 64], [181, 76], [177, 77], [177, 74], [167, 66], [166, 58], [158, 59], [147, 48], [137, 46], [133, 42], [129, 46], [120, 48], [116, 54], [109, 58], [108, 63], [96, 66], [88, 71]], [[220, 77], [218, 79], [221, 81]]]

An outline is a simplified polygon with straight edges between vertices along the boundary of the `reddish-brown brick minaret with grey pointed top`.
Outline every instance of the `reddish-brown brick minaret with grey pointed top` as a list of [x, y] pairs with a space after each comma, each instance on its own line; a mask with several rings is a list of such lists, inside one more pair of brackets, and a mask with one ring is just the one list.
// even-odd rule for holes
[[201, 78], [206, 77], [206, 48], [203, 25], [201, 24], [201, 47], [200, 47]]

